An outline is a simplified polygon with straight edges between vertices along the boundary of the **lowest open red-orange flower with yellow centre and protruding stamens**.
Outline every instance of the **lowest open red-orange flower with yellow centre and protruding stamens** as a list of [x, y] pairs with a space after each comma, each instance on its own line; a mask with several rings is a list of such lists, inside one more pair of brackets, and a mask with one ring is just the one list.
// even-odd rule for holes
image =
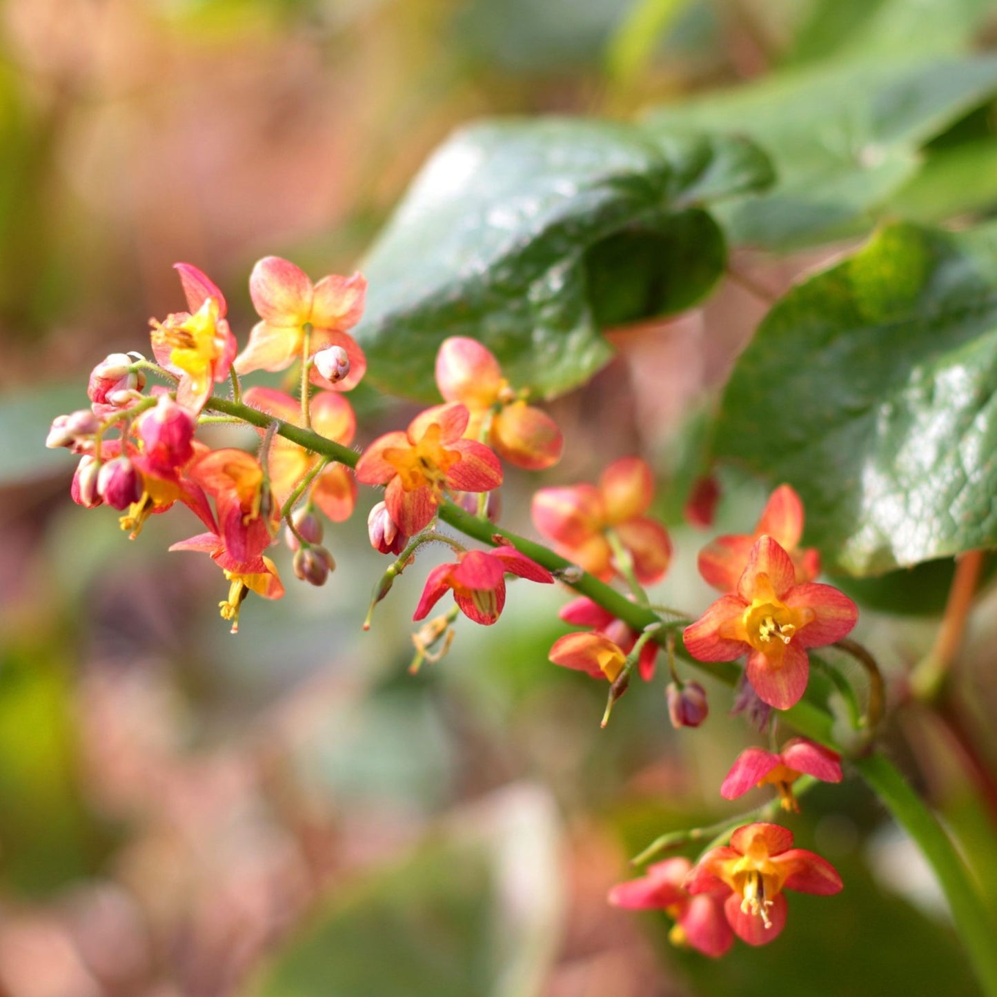
[[749, 824], [731, 835], [730, 847], [711, 848], [686, 879], [695, 895], [730, 893], [724, 913], [734, 933], [749, 945], [774, 941], [786, 924], [784, 889], [828, 896], [841, 877], [827, 859], [793, 847], [793, 834], [775, 824]]

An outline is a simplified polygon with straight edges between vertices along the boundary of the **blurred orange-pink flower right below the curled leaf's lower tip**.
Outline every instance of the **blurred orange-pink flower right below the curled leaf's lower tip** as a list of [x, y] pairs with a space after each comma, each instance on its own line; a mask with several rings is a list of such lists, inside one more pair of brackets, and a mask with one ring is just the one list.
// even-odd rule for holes
[[436, 381], [444, 401], [460, 402], [471, 413], [465, 436], [480, 439], [488, 422], [486, 442], [509, 464], [542, 471], [560, 460], [564, 440], [554, 421], [509, 387], [498, 360], [478, 340], [444, 340], [437, 354]]

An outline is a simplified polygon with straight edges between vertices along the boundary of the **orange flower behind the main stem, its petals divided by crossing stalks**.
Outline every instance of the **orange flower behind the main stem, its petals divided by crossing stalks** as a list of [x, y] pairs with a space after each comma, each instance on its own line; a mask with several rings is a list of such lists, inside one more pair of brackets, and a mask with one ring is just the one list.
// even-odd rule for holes
[[[302, 425], [301, 406], [282, 391], [252, 387], [243, 393], [242, 398], [246, 405], [260, 412], [292, 426]], [[344, 447], [353, 443], [357, 420], [353, 407], [345, 398], [331, 391], [322, 391], [311, 399], [310, 405], [312, 429], [316, 433]], [[268, 471], [270, 487], [278, 505], [283, 505], [319, 460], [317, 454], [283, 437], [275, 436], [270, 441]], [[319, 472], [310, 486], [309, 495], [333, 522], [344, 522], [353, 514], [357, 483], [348, 468], [342, 464], [330, 464]]]

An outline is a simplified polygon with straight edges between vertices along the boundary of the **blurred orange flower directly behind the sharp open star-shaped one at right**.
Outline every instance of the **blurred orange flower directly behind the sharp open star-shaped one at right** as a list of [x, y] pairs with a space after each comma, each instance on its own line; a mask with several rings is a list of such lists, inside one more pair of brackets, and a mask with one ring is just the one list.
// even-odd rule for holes
[[821, 573], [816, 547], [800, 549], [804, 531], [804, 504], [789, 485], [780, 485], [765, 503], [753, 533], [718, 536], [699, 552], [699, 573], [722, 592], [732, 592], [760, 536], [771, 536], [790, 555], [798, 583], [813, 581]]

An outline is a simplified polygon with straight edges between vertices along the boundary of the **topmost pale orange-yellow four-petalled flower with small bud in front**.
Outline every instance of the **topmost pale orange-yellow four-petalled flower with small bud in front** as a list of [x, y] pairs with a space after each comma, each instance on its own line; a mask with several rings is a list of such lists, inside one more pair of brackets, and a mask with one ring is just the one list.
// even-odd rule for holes
[[249, 343], [235, 359], [239, 374], [282, 371], [302, 359], [308, 336], [308, 357], [339, 346], [346, 352], [349, 373], [333, 384], [315, 369], [311, 380], [323, 388], [349, 391], [367, 369], [367, 360], [356, 340], [347, 334], [364, 311], [367, 281], [360, 273], [351, 277], [330, 274], [317, 284], [303, 270], [279, 256], [265, 256], [249, 275], [249, 296], [262, 319], [253, 326]]

